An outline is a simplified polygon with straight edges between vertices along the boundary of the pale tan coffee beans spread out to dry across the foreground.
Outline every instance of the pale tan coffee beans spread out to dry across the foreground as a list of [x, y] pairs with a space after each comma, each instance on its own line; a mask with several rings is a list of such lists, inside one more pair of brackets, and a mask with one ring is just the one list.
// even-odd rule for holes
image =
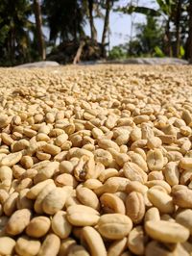
[[192, 67], [0, 68], [0, 255], [192, 255]]

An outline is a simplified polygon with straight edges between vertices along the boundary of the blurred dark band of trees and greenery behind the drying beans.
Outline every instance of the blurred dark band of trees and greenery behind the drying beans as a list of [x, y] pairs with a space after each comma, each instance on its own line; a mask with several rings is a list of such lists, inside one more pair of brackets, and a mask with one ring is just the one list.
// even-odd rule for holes
[[[1, 0], [0, 65], [131, 57], [176, 57], [192, 63], [192, 0], [145, 2], [150, 8], [138, 0], [125, 0], [123, 6], [120, 0]], [[126, 43], [108, 50], [112, 12], [142, 13], [146, 22], [132, 23], [134, 35], [131, 31]], [[100, 40], [96, 18], [103, 21]]]

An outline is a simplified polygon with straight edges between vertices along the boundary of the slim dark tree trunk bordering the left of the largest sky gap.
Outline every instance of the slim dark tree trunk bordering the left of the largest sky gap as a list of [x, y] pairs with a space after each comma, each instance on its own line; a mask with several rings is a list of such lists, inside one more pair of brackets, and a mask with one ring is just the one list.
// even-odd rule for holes
[[110, 0], [106, 0], [106, 15], [105, 15], [105, 21], [104, 21], [104, 30], [102, 35], [102, 57], [106, 57], [106, 38], [107, 38], [107, 32], [108, 32], [109, 12], [110, 12]]

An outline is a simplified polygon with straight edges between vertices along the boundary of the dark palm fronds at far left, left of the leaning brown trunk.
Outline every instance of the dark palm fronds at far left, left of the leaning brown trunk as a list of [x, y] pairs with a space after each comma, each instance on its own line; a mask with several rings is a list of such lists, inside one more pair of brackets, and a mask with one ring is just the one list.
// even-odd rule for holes
[[[9, 13], [9, 14], [8, 14]], [[29, 0], [1, 0], [0, 2], [0, 51], [3, 64], [29, 61], [34, 24]]]

